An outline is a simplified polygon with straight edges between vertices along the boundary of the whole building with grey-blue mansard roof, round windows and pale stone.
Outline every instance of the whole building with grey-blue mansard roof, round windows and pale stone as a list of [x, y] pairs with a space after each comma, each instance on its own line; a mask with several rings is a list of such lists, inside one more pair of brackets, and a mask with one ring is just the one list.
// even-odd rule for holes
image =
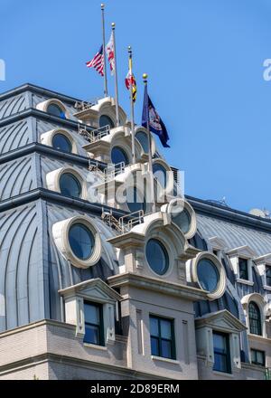
[[271, 220], [183, 199], [115, 115], [0, 95], [0, 379], [269, 378]]

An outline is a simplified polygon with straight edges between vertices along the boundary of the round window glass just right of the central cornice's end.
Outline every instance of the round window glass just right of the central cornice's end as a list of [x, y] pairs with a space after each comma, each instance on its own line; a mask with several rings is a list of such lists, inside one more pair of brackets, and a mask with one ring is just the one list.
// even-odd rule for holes
[[214, 262], [201, 259], [197, 265], [198, 280], [201, 289], [214, 292], [218, 288], [220, 272]]

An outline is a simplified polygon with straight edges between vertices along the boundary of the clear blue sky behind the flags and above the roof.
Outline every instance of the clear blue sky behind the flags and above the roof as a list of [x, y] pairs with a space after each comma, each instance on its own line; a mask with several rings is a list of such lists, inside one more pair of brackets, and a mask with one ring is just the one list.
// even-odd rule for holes
[[[85, 62], [101, 44], [100, 1], [0, 0], [0, 91], [32, 82], [89, 100], [102, 79]], [[117, 24], [120, 103], [126, 47], [134, 50], [138, 100], [142, 73], [168, 128], [167, 161], [185, 172], [185, 192], [226, 196], [231, 207], [271, 209], [271, 58], [269, 0], [107, 0], [107, 38]], [[110, 94], [114, 94], [110, 79]]]

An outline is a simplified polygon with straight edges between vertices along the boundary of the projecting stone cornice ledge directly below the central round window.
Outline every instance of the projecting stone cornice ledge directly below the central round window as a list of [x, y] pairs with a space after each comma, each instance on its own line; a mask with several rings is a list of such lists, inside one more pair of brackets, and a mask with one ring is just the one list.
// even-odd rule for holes
[[172, 283], [167, 280], [158, 280], [129, 272], [108, 278], [109, 286], [120, 288], [122, 286], [133, 286], [138, 289], [157, 291], [169, 296], [189, 299], [192, 301], [206, 299], [207, 291], [192, 288], [191, 286]]

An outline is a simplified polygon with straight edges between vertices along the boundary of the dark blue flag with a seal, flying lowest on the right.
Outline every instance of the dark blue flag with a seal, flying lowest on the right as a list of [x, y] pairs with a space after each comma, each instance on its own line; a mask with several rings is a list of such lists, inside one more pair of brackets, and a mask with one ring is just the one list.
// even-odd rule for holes
[[154, 108], [152, 100], [148, 96], [146, 85], [142, 112], [142, 126], [145, 128], [149, 128], [152, 133], [156, 134], [160, 138], [163, 147], [170, 147], [167, 144], [169, 136], [164, 126], [164, 122], [162, 118], [160, 118], [160, 116], [158, 115], [156, 109]]

